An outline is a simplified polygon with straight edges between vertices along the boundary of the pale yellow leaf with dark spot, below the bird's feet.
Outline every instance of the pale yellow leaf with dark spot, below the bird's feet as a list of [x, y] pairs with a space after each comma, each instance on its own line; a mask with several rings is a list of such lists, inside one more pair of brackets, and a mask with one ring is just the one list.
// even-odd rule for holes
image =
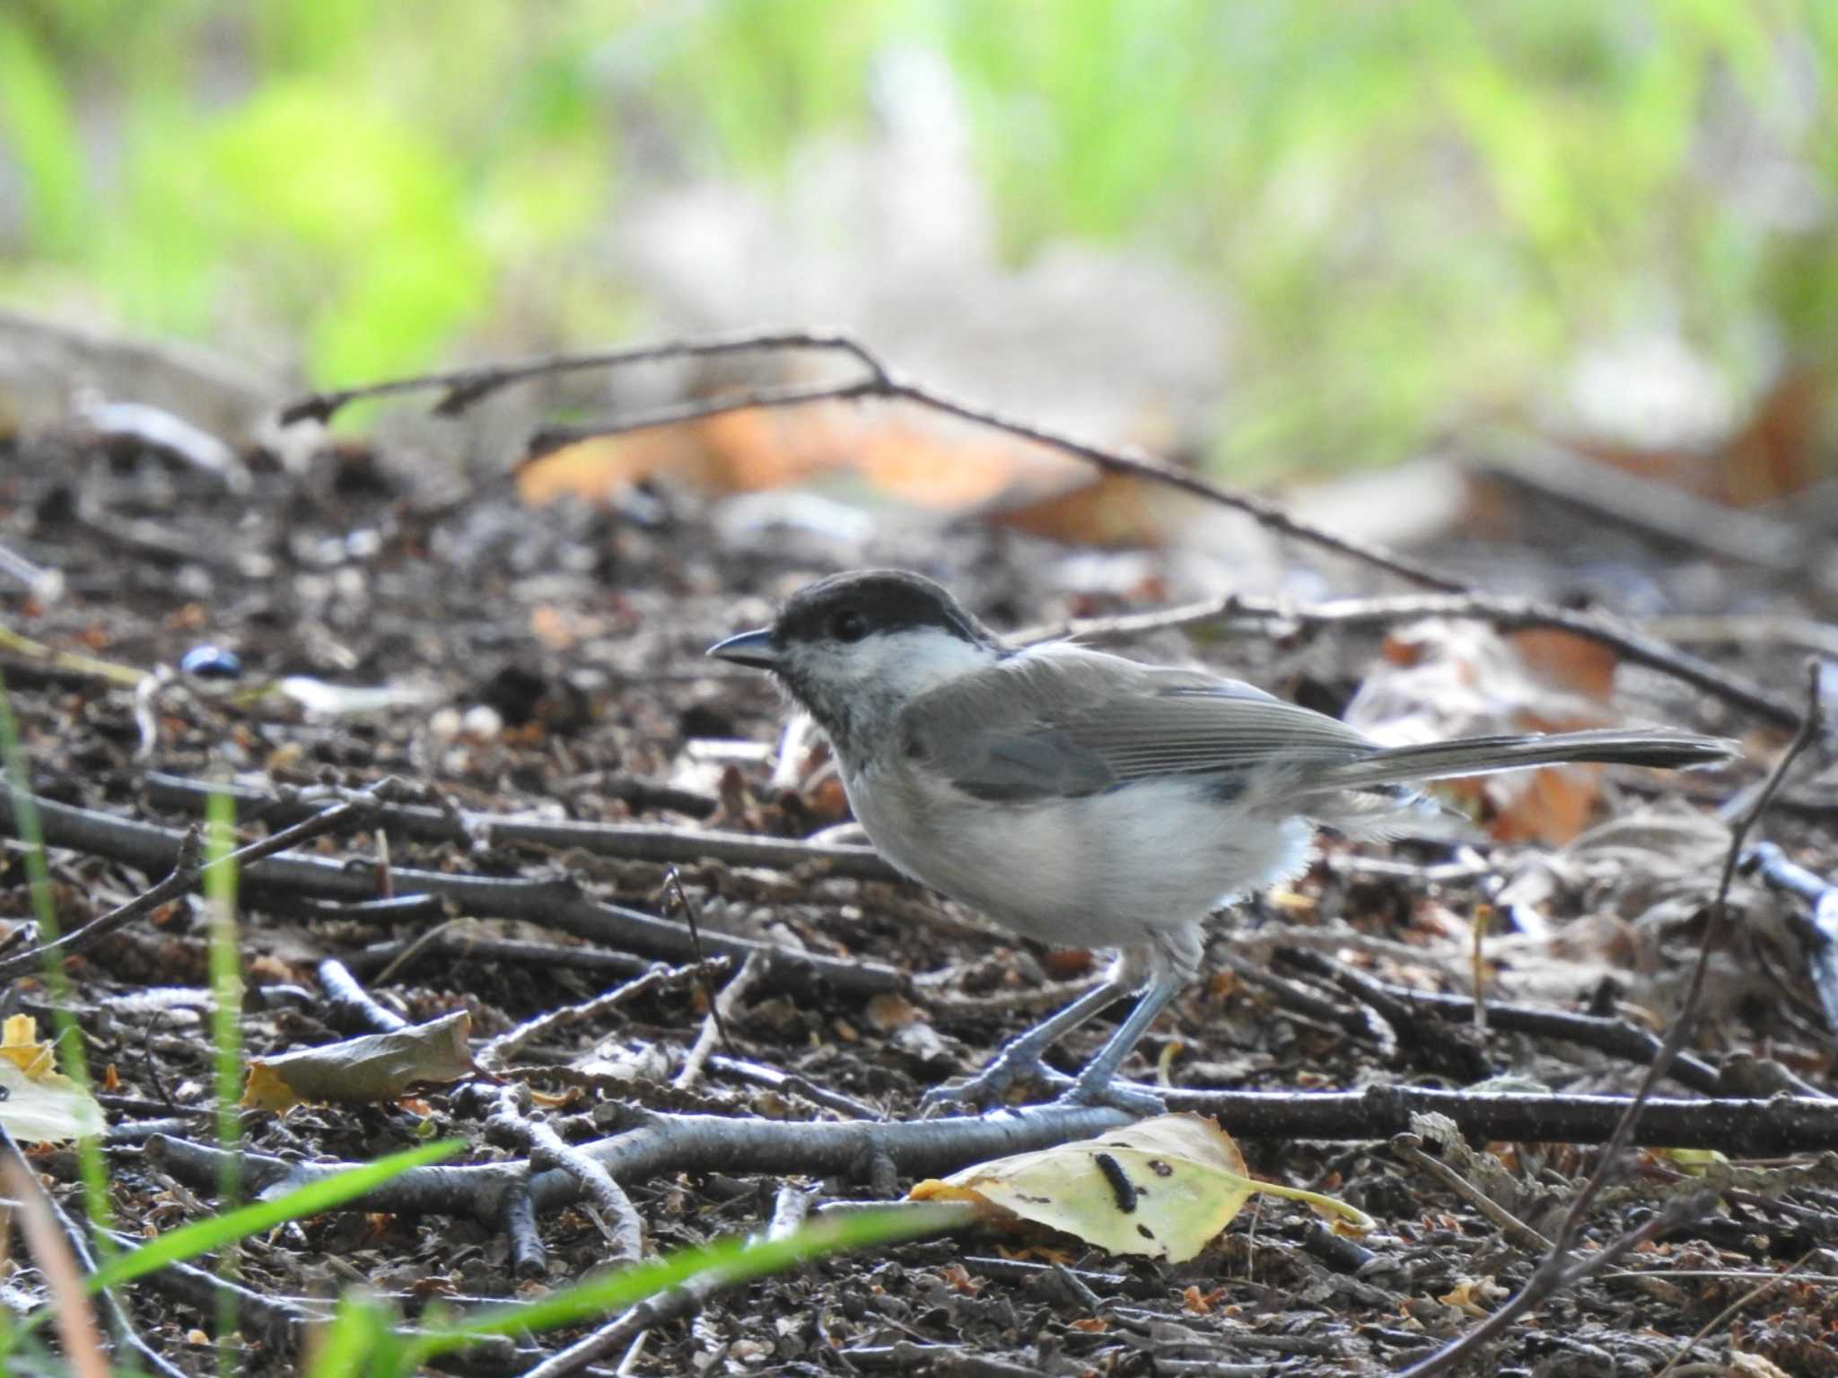
[[991, 1218], [1031, 1220], [1110, 1253], [1182, 1262], [1195, 1257], [1242, 1209], [1252, 1192], [1292, 1196], [1355, 1233], [1375, 1227], [1331, 1196], [1255, 1181], [1219, 1123], [1204, 1115], [1158, 1115], [1097, 1139], [998, 1158], [921, 1181], [912, 1200], [969, 1202]]

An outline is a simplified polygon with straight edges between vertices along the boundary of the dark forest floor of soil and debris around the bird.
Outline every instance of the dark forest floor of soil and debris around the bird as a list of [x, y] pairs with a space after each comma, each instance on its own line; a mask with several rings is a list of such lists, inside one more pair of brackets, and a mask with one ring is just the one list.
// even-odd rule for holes
[[[239, 841], [252, 841], [397, 777], [404, 801], [382, 805], [384, 814], [360, 807], [346, 827], [303, 843], [300, 854], [320, 869], [257, 865], [243, 876], [248, 1056], [375, 1033], [388, 1023], [379, 1011], [410, 1023], [465, 1011], [478, 1051], [656, 961], [680, 968], [544, 1029], [496, 1075], [375, 1102], [244, 1112], [252, 1183], [283, 1170], [270, 1159], [358, 1163], [437, 1135], [467, 1139], [467, 1161], [516, 1165], [529, 1158], [516, 1137], [528, 1121], [509, 1135], [491, 1126], [505, 1086], [531, 1088], [539, 1110], [526, 1104], [526, 1113], [577, 1146], [647, 1123], [638, 1112], [910, 1124], [926, 1088], [974, 1071], [1101, 970], [1094, 954], [1005, 939], [853, 849], [748, 853], [698, 841], [798, 841], [845, 819], [820, 751], [779, 750], [785, 706], [770, 683], [702, 650], [759, 625], [801, 579], [844, 564], [921, 568], [1011, 628], [1152, 604], [1163, 557], [1132, 557], [1129, 579], [1088, 581], [1070, 595], [1059, 548], [974, 522], [844, 540], [820, 525], [732, 520], [719, 503], [669, 487], [603, 507], [529, 507], [509, 483], [447, 485], [430, 498], [434, 489], [384, 443], [327, 452], [303, 476], [257, 463], [241, 492], [149, 448], [81, 435], [20, 439], [0, 461], [0, 544], [62, 579], [55, 599], [7, 592], [13, 634], [140, 672], [215, 645], [241, 658], [241, 685], [294, 680], [292, 695], [237, 700], [237, 685], [178, 674], [149, 695], [151, 680], [136, 685], [68, 656], [50, 661], [15, 647], [0, 658], [29, 786], [70, 810], [46, 823], [64, 932], [158, 882], [175, 834], [202, 818], [210, 788], [224, 781], [239, 797]], [[1562, 595], [1588, 564], [1575, 525], [1544, 524], [1562, 531], [1562, 548], [1470, 542], [1434, 553], [1481, 581], [1513, 568], [1518, 588]], [[1619, 538], [1603, 540], [1627, 568], [1641, 560], [1643, 606], [1818, 612], [1794, 603], [1779, 571], [1757, 592], [1755, 579], [1702, 559], [1628, 555]], [[1588, 577], [1603, 575], [1592, 566]], [[1123, 649], [1198, 658], [1340, 711], [1371, 672], [1399, 669], [1395, 652], [1378, 654], [1380, 639], [1378, 630], [1239, 625], [1191, 639], [1163, 630]], [[1792, 645], [1706, 654], [1801, 696], [1805, 652]], [[386, 685], [391, 696], [344, 711], [349, 700], [320, 702], [323, 691], [301, 682]], [[1649, 1034], [1669, 1027], [1709, 924], [1728, 847], [1719, 810], [1761, 779], [1788, 733], [1654, 671], [1621, 665], [1617, 691], [1621, 711], [1735, 737], [1750, 757], [1676, 779], [1590, 775], [1586, 796], [1559, 807], [1608, 821], [1606, 830], [1566, 845], [1327, 840], [1294, 891], [1220, 915], [1209, 977], [1156, 1025], [1130, 1075], [1154, 1080], [1160, 1062], [1182, 1091], [1274, 1095], [1470, 1091], [1494, 1077], [1515, 1080], [1491, 1086], [1527, 1095], [1632, 1091], [1643, 1073], [1638, 1049], [1651, 1056]], [[1838, 790], [1812, 779], [1821, 764], [1809, 761], [1761, 832], [1831, 871]], [[1511, 823], [1520, 805], [1487, 807]], [[97, 830], [74, 810], [142, 830]], [[592, 827], [539, 827], [564, 821]], [[1544, 823], [1520, 832], [1548, 836]], [[441, 891], [426, 876], [458, 882]], [[7, 926], [29, 922], [28, 891], [22, 851], [9, 843]], [[686, 906], [708, 950], [735, 961], [693, 966]], [[645, 926], [629, 911], [667, 922]], [[1838, 1090], [1832, 1036], [1807, 976], [1803, 906], [1739, 878], [1730, 919], [1689, 1067], [1674, 1066], [1656, 1093], [1746, 1093], [1761, 1115], [1776, 1091]], [[116, 1226], [129, 1237], [213, 1211], [217, 1167], [202, 1152], [215, 1143], [208, 924], [206, 902], [184, 895], [68, 965], [72, 1009], [103, 1077]], [[1480, 1027], [1472, 1005], [1430, 1009], [1397, 996], [1472, 994], [1476, 926], [1487, 933], [1489, 1003], [1595, 1016], [1590, 1029], [1634, 1031], [1632, 1042], [1605, 1034], [1590, 1045], [1509, 1020]], [[0, 957], [24, 950], [28, 935]], [[722, 935], [761, 944], [770, 959], [752, 963], [746, 987], [724, 1000], [726, 1042], [709, 1047], [709, 996], [737, 979], [744, 955]], [[325, 959], [342, 963], [349, 985]], [[50, 1025], [42, 979], [13, 979], [4, 1001], [7, 1014]], [[1055, 1049], [1057, 1066], [1075, 1069], [1110, 1018]], [[959, 1233], [722, 1292], [649, 1328], [636, 1354], [621, 1349], [583, 1371], [1393, 1372], [1527, 1282], [1542, 1259], [1537, 1237], [1559, 1227], [1605, 1137], [1470, 1132], [1463, 1141], [1450, 1128], [1458, 1123], [1353, 1121], [1310, 1137], [1226, 1115], [1254, 1172], [1375, 1216], [1378, 1231], [1356, 1244], [1276, 1198], [1257, 1198], [1178, 1264], [1070, 1237]], [[1395, 1141], [1397, 1128], [1413, 1128], [1447, 1170]], [[1649, 1146], [1581, 1222], [1583, 1253], [1651, 1222], [1702, 1185], [1700, 1172], [1711, 1172], [1717, 1196], [1516, 1321], [1485, 1367], [1838, 1374], [1838, 1156], [1733, 1150], [1706, 1167], [1638, 1137]], [[735, 1139], [616, 1176], [645, 1249], [667, 1251], [763, 1227], [785, 1183], [818, 1203], [877, 1200], [985, 1148], [945, 1135], [923, 1152], [868, 1152], [853, 1165], [812, 1148], [811, 1170], [798, 1172], [783, 1148], [754, 1156]], [[81, 1211], [75, 1154], [40, 1150], [33, 1163]], [[417, 1317], [432, 1305], [533, 1299], [588, 1275], [607, 1262], [616, 1231], [575, 1196], [550, 1192], [516, 1226], [498, 1198], [482, 1196], [471, 1207], [329, 1213], [246, 1240], [241, 1284], [267, 1305], [244, 1303], [241, 1371], [296, 1371], [301, 1323], [323, 1314], [318, 1299], [357, 1282]], [[42, 1301], [44, 1281], [20, 1271], [17, 1251], [9, 1268], [9, 1299]], [[149, 1279], [132, 1299], [153, 1349], [184, 1371], [213, 1371], [217, 1301], [202, 1273]], [[522, 1372], [570, 1338], [482, 1350], [467, 1367]]]

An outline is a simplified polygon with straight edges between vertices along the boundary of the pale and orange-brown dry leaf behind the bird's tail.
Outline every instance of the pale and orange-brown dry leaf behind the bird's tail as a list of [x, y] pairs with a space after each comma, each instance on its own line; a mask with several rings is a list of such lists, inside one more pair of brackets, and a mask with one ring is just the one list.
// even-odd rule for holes
[[[1347, 707], [1347, 722], [1390, 746], [1509, 731], [1573, 731], [1614, 722], [1614, 661], [1568, 634], [1500, 636], [1485, 623], [1432, 619], [1395, 630]], [[1481, 807], [1502, 841], [1560, 845], [1590, 819], [1601, 766], [1546, 766], [1437, 792]]]

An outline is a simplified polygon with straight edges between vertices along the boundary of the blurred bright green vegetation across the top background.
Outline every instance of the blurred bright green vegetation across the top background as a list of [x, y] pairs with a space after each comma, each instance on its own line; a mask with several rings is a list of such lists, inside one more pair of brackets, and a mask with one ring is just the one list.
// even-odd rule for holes
[[923, 125], [915, 51], [994, 263], [1215, 303], [1228, 474], [1412, 454], [1628, 340], [1737, 408], [1832, 375], [1831, 0], [6, 0], [0, 301], [316, 386], [686, 325], [621, 224]]

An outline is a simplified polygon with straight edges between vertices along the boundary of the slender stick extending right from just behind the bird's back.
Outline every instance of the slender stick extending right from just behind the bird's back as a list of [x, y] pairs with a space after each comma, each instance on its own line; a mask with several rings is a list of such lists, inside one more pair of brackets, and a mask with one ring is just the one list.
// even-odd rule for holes
[[1402, 593], [1397, 597], [1327, 599], [1323, 603], [1285, 603], [1281, 599], [1230, 593], [1160, 612], [1081, 617], [1062, 627], [1037, 628], [1029, 636], [1077, 636], [1105, 641], [1231, 619], [1285, 623], [1303, 632], [1318, 632], [1325, 628], [1384, 628], [1424, 617], [1467, 617], [1483, 621], [1502, 632], [1533, 628], [1570, 632], [1571, 636], [1608, 647], [1628, 663], [1669, 674], [1766, 722], [1788, 729], [1799, 728], [1799, 709], [1781, 695], [1741, 674], [1730, 674], [1708, 660], [1678, 650], [1619, 619], [1599, 612], [1557, 608], [1548, 603], [1494, 593]]

